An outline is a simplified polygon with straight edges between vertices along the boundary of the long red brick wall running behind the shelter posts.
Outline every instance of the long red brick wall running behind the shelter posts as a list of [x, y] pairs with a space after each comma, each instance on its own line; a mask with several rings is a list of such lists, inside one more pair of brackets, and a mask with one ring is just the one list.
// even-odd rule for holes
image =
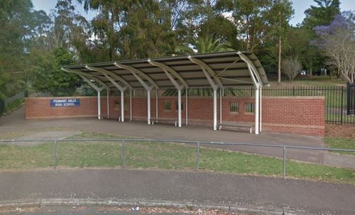
[[[80, 99], [80, 106], [50, 107], [50, 99], [53, 98], [27, 98], [26, 118], [97, 116], [97, 97], [75, 98]], [[124, 100], [126, 104], [129, 104], [129, 98], [124, 98]], [[170, 110], [164, 109], [165, 101], [170, 101]], [[176, 97], [158, 98], [158, 118], [177, 119], [177, 101]], [[238, 113], [229, 111], [231, 102], [239, 103]], [[254, 102], [254, 99], [224, 97], [222, 101], [223, 123], [253, 124], [255, 116], [253, 113], [246, 113], [246, 102]], [[120, 103], [121, 99], [119, 97], [110, 97], [110, 115], [121, 115]], [[212, 98], [189, 97], [187, 103], [189, 124], [212, 126]], [[107, 114], [106, 97], [101, 99], [101, 111], [102, 114]], [[185, 111], [185, 97], [182, 97], [182, 124], [185, 124]], [[132, 116], [133, 120], [147, 120], [146, 98], [132, 98]], [[219, 98], [217, 99], [217, 117], [219, 122]], [[125, 118], [129, 119], [129, 105], [125, 109]], [[155, 98], [151, 98], [151, 118], [155, 118]], [[324, 136], [324, 97], [263, 97], [262, 119], [263, 131]]]

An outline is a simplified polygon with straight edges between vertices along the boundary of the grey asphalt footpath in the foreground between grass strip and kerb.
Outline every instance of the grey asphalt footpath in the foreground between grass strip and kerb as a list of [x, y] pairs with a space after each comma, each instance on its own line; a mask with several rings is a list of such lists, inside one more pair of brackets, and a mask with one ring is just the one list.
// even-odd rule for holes
[[[111, 199], [231, 206], [255, 214], [355, 214], [355, 186], [268, 177], [148, 170], [0, 172], [0, 204]], [[287, 214], [287, 213], [286, 213]]]

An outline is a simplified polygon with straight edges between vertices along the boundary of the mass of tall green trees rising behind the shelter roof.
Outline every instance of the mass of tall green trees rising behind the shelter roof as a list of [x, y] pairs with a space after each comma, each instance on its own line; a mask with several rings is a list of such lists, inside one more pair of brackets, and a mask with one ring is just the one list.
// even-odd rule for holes
[[[31, 0], [2, 0], [0, 97], [26, 87], [80, 86], [79, 79], [60, 70], [62, 65], [173, 53], [251, 50], [271, 77], [279, 59], [297, 59], [308, 75], [344, 70], [322, 54], [320, 41], [330, 43], [317, 27], [334, 26], [340, 1], [314, 3], [302, 23], [290, 26], [290, 0], [58, 0], [50, 14], [35, 11]], [[74, 4], [97, 15], [88, 21]]]

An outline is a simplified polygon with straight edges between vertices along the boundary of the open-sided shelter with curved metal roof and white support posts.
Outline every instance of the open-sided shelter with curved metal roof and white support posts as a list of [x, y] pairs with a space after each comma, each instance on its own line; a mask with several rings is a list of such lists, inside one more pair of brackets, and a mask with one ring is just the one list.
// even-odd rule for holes
[[[188, 121], [187, 89], [209, 87], [213, 89], [213, 129], [217, 130], [217, 91], [220, 101], [227, 87], [253, 86], [255, 89], [255, 133], [261, 131], [261, 90], [268, 85], [265, 71], [253, 53], [228, 52], [202, 55], [155, 57], [138, 60], [100, 62], [88, 65], [62, 67], [65, 72], [75, 73], [97, 91], [98, 118], [102, 118], [100, 92], [118, 89], [121, 92], [121, 121], [124, 121], [124, 92], [130, 94], [130, 119], [132, 119], [132, 93], [136, 89], [147, 92], [147, 121], [151, 124], [151, 91], [156, 89], [156, 116], [158, 119], [158, 89], [178, 91], [178, 126], [182, 126], [182, 91], [185, 90], [186, 125]], [[107, 94], [109, 101], [109, 93]], [[222, 105], [222, 102], [219, 102]], [[109, 106], [107, 106], [109, 115]], [[222, 109], [219, 109], [222, 123]]]

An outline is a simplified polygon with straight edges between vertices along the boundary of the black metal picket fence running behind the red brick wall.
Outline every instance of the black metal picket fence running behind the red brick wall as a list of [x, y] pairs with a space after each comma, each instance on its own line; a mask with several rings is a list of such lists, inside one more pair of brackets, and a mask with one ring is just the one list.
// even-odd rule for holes
[[[350, 86], [350, 87], [349, 87]], [[353, 88], [351, 88], [351, 86]], [[102, 91], [106, 95], [107, 91]], [[189, 97], [212, 97], [211, 88], [188, 89]], [[219, 94], [220, 91], [217, 91]], [[111, 95], [115, 95], [111, 91]], [[176, 89], [159, 89], [159, 97], [177, 96]], [[182, 95], [185, 91], [182, 91]], [[325, 97], [324, 111], [325, 122], [339, 125], [355, 126], [355, 85], [348, 87], [265, 87], [262, 89], [263, 97]], [[88, 89], [65, 89], [49, 92], [28, 91], [27, 97], [78, 97], [96, 96], [97, 93]], [[118, 95], [118, 94], [117, 94]], [[126, 97], [129, 92], [126, 91]], [[136, 89], [133, 97], [145, 97], [146, 91]], [[152, 94], [155, 97], [155, 92]], [[224, 97], [254, 97], [253, 87], [227, 87], [223, 90]]]

